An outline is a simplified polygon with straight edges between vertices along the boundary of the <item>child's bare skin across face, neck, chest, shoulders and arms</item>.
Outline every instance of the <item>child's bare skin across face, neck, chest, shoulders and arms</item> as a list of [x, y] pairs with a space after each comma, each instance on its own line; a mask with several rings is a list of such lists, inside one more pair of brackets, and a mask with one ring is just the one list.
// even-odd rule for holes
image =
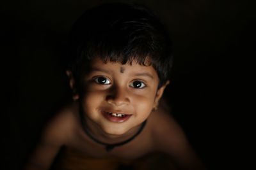
[[[67, 71], [67, 75], [71, 89], [76, 91], [72, 72]], [[132, 65], [104, 64], [96, 58], [82, 81], [83, 94], [75, 93], [74, 103], [63, 108], [45, 126], [42, 139], [25, 169], [49, 169], [61, 146], [83, 157], [98, 159], [136, 160], [148, 153], [161, 152], [172, 158], [170, 162], [176, 164], [173, 169], [204, 169], [184, 132], [170, 116], [168, 106], [164, 101], [159, 102], [168, 83], [157, 89], [158, 83], [159, 78], [152, 66], [140, 66], [136, 62]], [[105, 143], [129, 139], [146, 119], [147, 124], [131, 142], [106, 152], [103, 145], [84, 133], [79, 104], [86, 128]], [[125, 113], [131, 117], [125, 122], [111, 122], [102, 115], [102, 111]], [[68, 152], [66, 156], [71, 157]]]

